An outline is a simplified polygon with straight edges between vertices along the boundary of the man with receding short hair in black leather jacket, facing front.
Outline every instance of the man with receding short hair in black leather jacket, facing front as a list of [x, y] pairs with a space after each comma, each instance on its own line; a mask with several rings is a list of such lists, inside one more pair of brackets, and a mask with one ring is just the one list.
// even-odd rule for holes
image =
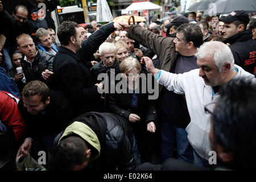
[[40, 80], [47, 84], [52, 72], [53, 55], [35, 47], [35, 43], [28, 34], [17, 38], [18, 49], [23, 53], [20, 61], [26, 82]]

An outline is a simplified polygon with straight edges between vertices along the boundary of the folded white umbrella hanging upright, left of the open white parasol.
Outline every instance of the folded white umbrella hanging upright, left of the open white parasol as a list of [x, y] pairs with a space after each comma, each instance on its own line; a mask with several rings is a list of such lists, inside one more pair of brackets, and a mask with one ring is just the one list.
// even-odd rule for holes
[[110, 22], [113, 20], [112, 13], [106, 0], [97, 0], [96, 22]]

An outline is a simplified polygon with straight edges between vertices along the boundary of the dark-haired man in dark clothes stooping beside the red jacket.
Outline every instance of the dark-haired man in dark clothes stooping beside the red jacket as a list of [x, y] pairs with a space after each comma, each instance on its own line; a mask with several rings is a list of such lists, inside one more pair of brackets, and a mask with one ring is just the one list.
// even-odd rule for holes
[[39, 157], [39, 151], [52, 152], [54, 138], [74, 118], [71, 104], [64, 94], [49, 90], [38, 80], [24, 86], [18, 106], [28, 130], [17, 157], [27, 155], [30, 149], [35, 159]]

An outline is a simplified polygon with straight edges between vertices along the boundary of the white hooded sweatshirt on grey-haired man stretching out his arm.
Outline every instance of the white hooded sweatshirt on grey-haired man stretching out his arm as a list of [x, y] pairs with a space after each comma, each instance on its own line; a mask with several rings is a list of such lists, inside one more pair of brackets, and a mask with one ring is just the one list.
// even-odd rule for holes
[[[235, 67], [238, 69], [238, 73], [232, 81], [241, 78], [256, 81], [254, 75], [246, 72], [238, 65]], [[205, 85], [203, 78], [199, 77], [199, 69], [178, 75], [162, 71], [158, 82], [172, 92], [185, 94], [191, 117], [191, 122], [185, 129], [188, 133], [189, 143], [197, 154], [208, 160], [210, 158], [209, 151], [211, 151], [209, 141], [210, 114], [205, 114], [204, 106], [217, 101], [219, 94], [214, 94], [212, 86]]]

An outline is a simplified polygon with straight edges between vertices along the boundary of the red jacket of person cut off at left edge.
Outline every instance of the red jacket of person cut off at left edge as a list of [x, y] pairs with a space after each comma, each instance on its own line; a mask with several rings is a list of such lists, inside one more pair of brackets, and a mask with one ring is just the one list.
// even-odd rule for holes
[[0, 91], [0, 148], [23, 137], [25, 121], [18, 109], [19, 98]]

